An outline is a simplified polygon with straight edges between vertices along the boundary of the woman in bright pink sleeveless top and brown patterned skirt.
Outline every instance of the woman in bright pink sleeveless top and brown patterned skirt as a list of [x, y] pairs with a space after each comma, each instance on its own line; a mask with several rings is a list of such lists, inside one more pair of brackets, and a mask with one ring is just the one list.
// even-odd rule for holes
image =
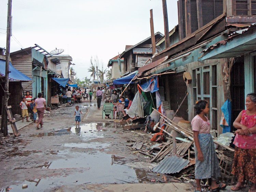
[[242, 110], [234, 121], [237, 128], [233, 144], [235, 147], [232, 174], [238, 183], [231, 188], [238, 191], [244, 187], [244, 181], [251, 181], [250, 192], [256, 192], [256, 94], [246, 95], [246, 110]]

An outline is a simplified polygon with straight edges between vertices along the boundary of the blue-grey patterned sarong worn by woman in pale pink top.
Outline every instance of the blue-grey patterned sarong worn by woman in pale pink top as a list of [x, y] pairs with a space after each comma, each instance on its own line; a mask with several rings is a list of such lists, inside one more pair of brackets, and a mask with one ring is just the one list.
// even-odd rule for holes
[[214, 143], [212, 140], [212, 135], [199, 133], [198, 139], [201, 151], [203, 153], [204, 161], [202, 162], [198, 160], [198, 152], [196, 149], [196, 145], [194, 144], [196, 158], [195, 178], [212, 178], [214, 180], [217, 180], [220, 176], [220, 168], [219, 160], [217, 158]]

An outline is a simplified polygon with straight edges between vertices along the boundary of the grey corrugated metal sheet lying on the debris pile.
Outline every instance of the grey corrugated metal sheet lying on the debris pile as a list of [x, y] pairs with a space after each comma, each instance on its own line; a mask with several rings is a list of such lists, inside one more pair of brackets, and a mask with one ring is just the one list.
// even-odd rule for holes
[[173, 154], [170, 157], [165, 157], [152, 171], [166, 174], [179, 173], [188, 163], [189, 160]]

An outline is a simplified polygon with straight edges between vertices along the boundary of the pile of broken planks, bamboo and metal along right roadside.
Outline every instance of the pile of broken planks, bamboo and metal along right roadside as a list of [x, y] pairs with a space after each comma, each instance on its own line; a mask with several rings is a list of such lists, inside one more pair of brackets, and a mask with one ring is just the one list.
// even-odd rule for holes
[[[159, 113], [156, 109], [154, 110]], [[183, 121], [182, 123], [175, 123], [165, 115], [161, 113], [159, 115], [159, 122], [156, 124], [153, 122], [153, 125], [150, 125], [151, 128], [154, 127], [151, 130], [154, 134], [131, 131], [134, 132], [133, 136], [142, 137], [127, 140], [126, 146], [133, 153], [143, 154], [146, 162], [155, 165], [154, 168], [152, 167], [152, 172], [163, 174], [160, 182], [189, 182], [195, 185], [194, 173], [196, 161], [194, 137], [191, 127], [189, 128], [186, 125], [190, 122]], [[120, 124], [124, 125], [123, 130], [142, 130], [145, 128], [145, 124], [141, 124], [141, 122], [140, 118], [136, 118], [136, 121], [130, 119], [121, 121]], [[155, 137], [154, 140], [152, 140], [152, 136], [153, 138]], [[213, 139], [216, 145], [217, 156], [220, 160], [221, 181], [232, 184], [234, 178], [231, 175], [231, 167], [234, 149], [229, 147], [230, 135], [225, 134], [222, 137], [224, 138], [219, 138], [218, 140], [217, 138]], [[169, 179], [163, 179], [164, 177]], [[170, 179], [170, 177], [173, 178]]]

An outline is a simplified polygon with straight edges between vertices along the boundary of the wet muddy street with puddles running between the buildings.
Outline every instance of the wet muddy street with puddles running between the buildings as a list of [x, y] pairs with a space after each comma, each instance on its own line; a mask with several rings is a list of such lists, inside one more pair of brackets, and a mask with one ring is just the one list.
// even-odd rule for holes
[[[102, 119], [95, 103], [80, 104], [82, 122], [75, 126], [71, 107], [62, 106], [44, 117], [44, 127], [31, 123], [21, 136], [1, 146], [2, 191], [55, 191], [62, 186], [150, 182], [157, 176], [133, 163], [146, 156], [133, 154], [114, 119]], [[90, 120], [90, 121], [89, 121]], [[144, 159], [143, 159], [144, 158]], [[130, 165], [130, 166], [129, 166]], [[28, 187], [23, 188], [23, 184]]]

